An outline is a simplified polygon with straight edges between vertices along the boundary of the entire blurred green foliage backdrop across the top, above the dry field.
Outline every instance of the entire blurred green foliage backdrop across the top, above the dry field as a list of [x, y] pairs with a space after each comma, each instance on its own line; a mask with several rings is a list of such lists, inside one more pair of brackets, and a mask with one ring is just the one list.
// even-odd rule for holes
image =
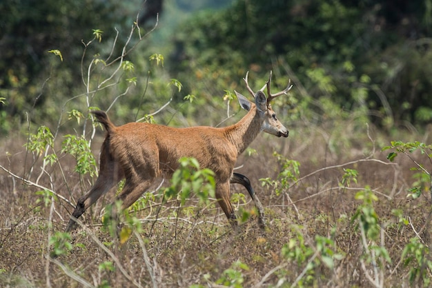
[[[142, 6], [137, 0], [1, 1], [0, 133], [28, 116], [37, 125], [55, 123], [66, 104], [64, 110], [84, 112], [89, 103], [79, 95], [90, 85], [86, 76], [92, 73], [92, 85], [107, 77], [105, 61], [111, 52], [121, 54]], [[261, 88], [273, 70], [275, 90], [295, 80], [291, 95], [275, 103], [291, 120], [355, 112], [362, 123], [393, 130], [432, 119], [431, 0], [178, 0], [165, 1], [163, 9], [161, 31], [128, 54], [124, 79], [91, 105], [106, 110], [116, 99], [116, 115], [125, 122], [172, 99], [159, 122], [176, 114], [181, 125], [195, 124], [191, 119], [217, 125], [224, 90], [244, 91], [247, 70], [251, 87]], [[141, 26], [141, 35], [151, 29]], [[129, 48], [139, 42], [137, 33]], [[170, 79], [178, 79], [181, 91], [167, 85]], [[127, 99], [117, 100], [125, 91]], [[193, 105], [185, 104], [188, 95]]]

